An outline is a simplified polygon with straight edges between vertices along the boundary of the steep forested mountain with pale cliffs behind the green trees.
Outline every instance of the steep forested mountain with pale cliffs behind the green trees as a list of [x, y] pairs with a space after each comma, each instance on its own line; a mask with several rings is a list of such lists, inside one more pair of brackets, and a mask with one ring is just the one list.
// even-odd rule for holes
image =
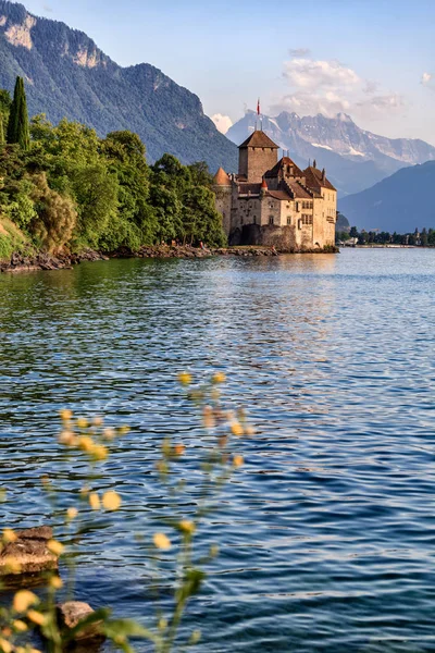
[[121, 67], [83, 32], [38, 19], [0, 0], [0, 87], [26, 79], [29, 112], [52, 122], [66, 116], [104, 136], [132, 130], [148, 158], [171, 152], [183, 163], [204, 160], [212, 171], [236, 170], [237, 148], [204, 115], [199, 98], [141, 63]]

